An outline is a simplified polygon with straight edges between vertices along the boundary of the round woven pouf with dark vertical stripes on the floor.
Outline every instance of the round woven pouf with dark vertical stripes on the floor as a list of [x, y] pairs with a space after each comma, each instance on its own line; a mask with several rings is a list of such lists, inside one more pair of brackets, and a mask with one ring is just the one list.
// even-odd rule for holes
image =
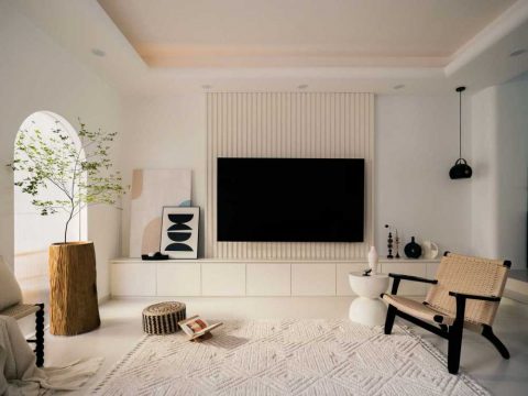
[[184, 319], [184, 302], [154, 304], [143, 309], [143, 331], [148, 334], [170, 334], [179, 330], [178, 321]]

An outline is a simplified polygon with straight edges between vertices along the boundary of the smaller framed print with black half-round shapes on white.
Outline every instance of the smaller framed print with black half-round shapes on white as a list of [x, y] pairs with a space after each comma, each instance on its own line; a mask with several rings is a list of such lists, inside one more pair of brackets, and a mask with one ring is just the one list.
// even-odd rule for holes
[[160, 252], [170, 258], [198, 258], [198, 207], [163, 207]]

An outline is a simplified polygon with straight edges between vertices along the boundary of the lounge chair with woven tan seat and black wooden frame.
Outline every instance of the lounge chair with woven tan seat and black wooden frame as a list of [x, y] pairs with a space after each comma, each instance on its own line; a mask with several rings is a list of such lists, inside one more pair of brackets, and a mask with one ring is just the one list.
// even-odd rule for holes
[[[510, 265], [509, 261], [446, 252], [437, 279], [389, 274], [394, 279], [391, 295], [382, 295], [388, 302], [385, 334], [391, 334], [394, 319], [398, 316], [447, 339], [448, 370], [451, 374], [459, 372], [464, 327], [480, 330], [504, 359], [509, 359], [508, 350], [493, 333], [492, 326]], [[397, 295], [400, 280], [422, 282], [432, 286], [426, 300], [419, 302]]]

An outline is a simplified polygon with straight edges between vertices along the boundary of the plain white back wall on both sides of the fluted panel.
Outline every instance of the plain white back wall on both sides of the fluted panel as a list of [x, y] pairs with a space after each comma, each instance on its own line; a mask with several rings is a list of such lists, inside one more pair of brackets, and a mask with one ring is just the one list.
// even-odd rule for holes
[[[466, 114], [469, 118], [469, 112]], [[207, 198], [205, 96], [128, 98], [123, 120], [127, 130], [123, 170], [128, 180], [135, 167], [193, 168], [193, 202], [204, 208]], [[471, 163], [468, 124], [464, 125], [464, 155]], [[441, 251], [472, 253], [472, 180], [451, 180], [448, 175], [458, 157], [455, 92], [377, 97], [375, 140], [374, 218], [381, 254], [386, 254], [383, 226], [387, 222], [398, 227], [404, 241], [416, 235], [418, 241], [437, 242]], [[123, 255], [128, 255], [130, 224], [128, 198], [125, 200]], [[204, 254], [204, 246], [199, 253]]]

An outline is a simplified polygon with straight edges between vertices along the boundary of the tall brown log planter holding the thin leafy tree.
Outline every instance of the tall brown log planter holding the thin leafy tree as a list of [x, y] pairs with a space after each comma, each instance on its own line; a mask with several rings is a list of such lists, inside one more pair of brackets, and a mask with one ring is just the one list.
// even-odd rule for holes
[[50, 283], [52, 334], [75, 336], [100, 326], [94, 242], [52, 244]]

